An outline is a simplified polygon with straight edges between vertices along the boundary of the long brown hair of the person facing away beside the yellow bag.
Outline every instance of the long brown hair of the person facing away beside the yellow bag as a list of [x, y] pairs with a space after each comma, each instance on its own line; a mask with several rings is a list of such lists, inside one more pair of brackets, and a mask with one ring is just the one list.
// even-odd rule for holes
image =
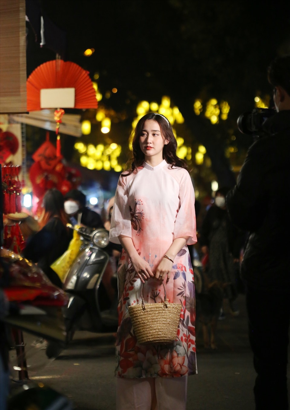
[[43, 214], [39, 221], [41, 228], [55, 216], [62, 221], [65, 227], [69, 223], [69, 218], [64, 211], [64, 197], [58, 189], [52, 188], [48, 189], [43, 196]]

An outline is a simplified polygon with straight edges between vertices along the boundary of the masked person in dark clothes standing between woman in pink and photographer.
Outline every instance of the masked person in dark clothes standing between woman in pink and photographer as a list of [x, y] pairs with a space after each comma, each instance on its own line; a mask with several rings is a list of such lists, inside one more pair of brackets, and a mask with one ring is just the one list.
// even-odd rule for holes
[[[219, 280], [224, 285], [230, 312], [239, 315], [237, 307], [236, 269], [239, 269], [240, 252], [244, 245], [244, 233], [231, 223], [226, 211], [226, 194], [229, 188], [221, 187], [215, 193], [215, 202], [208, 209], [201, 225], [199, 244], [201, 252], [208, 255], [207, 277], [209, 282]], [[221, 310], [219, 320], [224, 319]]]

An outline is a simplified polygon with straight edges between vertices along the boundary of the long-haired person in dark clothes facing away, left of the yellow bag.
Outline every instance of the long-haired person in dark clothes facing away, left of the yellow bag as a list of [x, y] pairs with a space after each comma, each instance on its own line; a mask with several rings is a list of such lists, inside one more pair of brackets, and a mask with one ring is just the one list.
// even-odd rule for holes
[[43, 197], [41, 230], [27, 241], [23, 256], [37, 263], [50, 281], [62, 287], [62, 281], [50, 265], [69, 247], [72, 231], [66, 227], [69, 219], [64, 212], [64, 197], [57, 189], [48, 189]]

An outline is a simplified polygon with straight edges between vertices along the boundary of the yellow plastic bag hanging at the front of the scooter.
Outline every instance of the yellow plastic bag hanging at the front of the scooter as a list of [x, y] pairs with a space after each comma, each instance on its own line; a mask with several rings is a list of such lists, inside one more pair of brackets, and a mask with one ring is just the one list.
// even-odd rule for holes
[[[75, 225], [75, 228], [80, 228], [78, 225]], [[73, 239], [69, 243], [67, 250], [60, 256], [50, 267], [57, 273], [60, 280], [64, 282], [66, 274], [71, 267], [71, 264], [75, 260], [81, 245], [80, 235], [77, 231], [73, 231]]]

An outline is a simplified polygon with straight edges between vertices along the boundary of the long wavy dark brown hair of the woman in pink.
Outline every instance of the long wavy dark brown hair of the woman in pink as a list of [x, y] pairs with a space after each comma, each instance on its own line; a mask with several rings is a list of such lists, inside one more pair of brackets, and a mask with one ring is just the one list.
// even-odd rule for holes
[[160, 114], [156, 114], [155, 112], [148, 112], [148, 114], [145, 114], [142, 118], [139, 119], [135, 129], [132, 131], [133, 158], [128, 161], [132, 161], [131, 168], [126, 171], [126, 174], [122, 175], [130, 175], [132, 172], [136, 172], [137, 167], [141, 166], [144, 162], [145, 155], [144, 153], [142, 153], [142, 150], [140, 148], [139, 139], [142, 134], [142, 130], [144, 129], [144, 123], [146, 120], [156, 121], [160, 125], [162, 137], [169, 141], [169, 144], [164, 145], [162, 152], [163, 159], [165, 159], [167, 164], [171, 164], [171, 168], [173, 166], [178, 166], [189, 171], [187, 163], [183, 159], [178, 158], [178, 156], [176, 155], [177, 142], [176, 138], [174, 137], [171, 124], [169, 123], [167, 118]]

